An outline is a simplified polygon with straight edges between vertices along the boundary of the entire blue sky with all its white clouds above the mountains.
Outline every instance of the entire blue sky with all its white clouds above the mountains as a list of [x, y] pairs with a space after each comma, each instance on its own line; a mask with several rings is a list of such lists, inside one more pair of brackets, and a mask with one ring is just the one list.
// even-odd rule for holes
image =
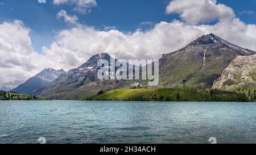
[[0, 88], [97, 53], [158, 59], [214, 33], [256, 51], [255, 0], [0, 0]]

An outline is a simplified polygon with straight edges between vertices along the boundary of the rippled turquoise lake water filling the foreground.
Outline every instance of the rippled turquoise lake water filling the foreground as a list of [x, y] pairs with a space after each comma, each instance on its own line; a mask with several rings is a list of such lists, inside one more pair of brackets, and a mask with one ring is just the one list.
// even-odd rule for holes
[[0, 101], [0, 143], [256, 143], [256, 103]]

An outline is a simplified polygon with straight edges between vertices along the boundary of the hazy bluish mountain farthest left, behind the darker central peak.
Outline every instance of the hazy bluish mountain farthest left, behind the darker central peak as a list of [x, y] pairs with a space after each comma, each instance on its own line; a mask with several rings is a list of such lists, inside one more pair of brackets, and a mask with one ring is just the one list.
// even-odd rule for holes
[[65, 73], [63, 69], [44, 69], [42, 72], [36, 74], [34, 77], [31, 77], [25, 83], [19, 85], [15, 89], [12, 89], [11, 91], [20, 94], [38, 95], [43, 87], [48, 86], [54, 79], [63, 73]]

